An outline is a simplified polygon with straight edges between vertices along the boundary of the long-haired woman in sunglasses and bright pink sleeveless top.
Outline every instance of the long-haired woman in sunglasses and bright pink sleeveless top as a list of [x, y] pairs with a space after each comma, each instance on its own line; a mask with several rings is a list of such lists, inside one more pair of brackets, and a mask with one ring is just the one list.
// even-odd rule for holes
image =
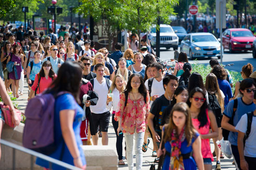
[[[211, 153], [209, 139], [218, 137], [215, 115], [211, 110], [208, 110], [205, 93], [202, 88], [196, 87], [191, 90], [187, 104], [190, 107], [193, 126], [200, 133], [204, 169], [212, 170], [212, 161], [214, 159]], [[210, 127], [212, 130], [211, 133], [209, 133]], [[218, 170], [220, 170], [219, 168], [220, 164]]]

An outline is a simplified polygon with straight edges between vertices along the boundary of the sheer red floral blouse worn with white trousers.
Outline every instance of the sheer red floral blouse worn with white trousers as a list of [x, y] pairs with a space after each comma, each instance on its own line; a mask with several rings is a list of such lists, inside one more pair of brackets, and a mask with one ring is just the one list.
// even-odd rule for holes
[[117, 120], [118, 117], [121, 117], [123, 133], [134, 134], [134, 132], [145, 132], [146, 124], [148, 124], [147, 119], [150, 108], [148, 93], [146, 101], [147, 104], [142, 96], [135, 102], [130, 99], [130, 93], [128, 93], [127, 105], [125, 107], [125, 94], [121, 94], [117, 112], [115, 113], [115, 120]]

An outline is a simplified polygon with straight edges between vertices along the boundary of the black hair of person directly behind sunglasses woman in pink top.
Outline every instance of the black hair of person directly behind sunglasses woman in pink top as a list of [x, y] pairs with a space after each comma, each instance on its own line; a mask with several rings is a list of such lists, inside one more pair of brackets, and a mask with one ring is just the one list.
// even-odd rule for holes
[[190, 94], [191, 90], [193, 90], [196, 87], [201, 88], [204, 91], [204, 94], [206, 97], [206, 102], [207, 102], [207, 104], [209, 104], [208, 93], [204, 87], [202, 76], [201, 76], [201, 74], [194, 72], [189, 77], [189, 87], [188, 87], [189, 94]]

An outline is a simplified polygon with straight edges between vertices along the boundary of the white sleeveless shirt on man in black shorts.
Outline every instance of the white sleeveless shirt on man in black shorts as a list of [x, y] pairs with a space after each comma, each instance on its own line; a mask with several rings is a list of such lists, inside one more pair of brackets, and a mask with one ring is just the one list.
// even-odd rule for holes
[[[110, 86], [112, 82], [109, 80]], [[109, 87], [110, 87], [109, 86]], [[108, 86], [106, 78], [103, 78], [103, 82], [100, 84], [97, 78], [94, 78], [94, 92], [98, 94], [99, 99], [95, 106], [90, 106], [91, 112], [95, 114], [108, 112], [107, 108], [107, 96], [108, 96]]]

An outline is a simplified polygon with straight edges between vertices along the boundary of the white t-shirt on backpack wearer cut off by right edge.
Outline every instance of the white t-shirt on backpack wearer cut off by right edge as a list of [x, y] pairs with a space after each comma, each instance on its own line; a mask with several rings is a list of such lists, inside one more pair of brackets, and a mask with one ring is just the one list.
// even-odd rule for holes
[[[236, 130], [246, 133], [247, 131], [247, 114], [244, 114], [236, 125]], [[251, 132], [245, 141], [244, 156], [256, 157], [256, 116], [252, 117]]]

